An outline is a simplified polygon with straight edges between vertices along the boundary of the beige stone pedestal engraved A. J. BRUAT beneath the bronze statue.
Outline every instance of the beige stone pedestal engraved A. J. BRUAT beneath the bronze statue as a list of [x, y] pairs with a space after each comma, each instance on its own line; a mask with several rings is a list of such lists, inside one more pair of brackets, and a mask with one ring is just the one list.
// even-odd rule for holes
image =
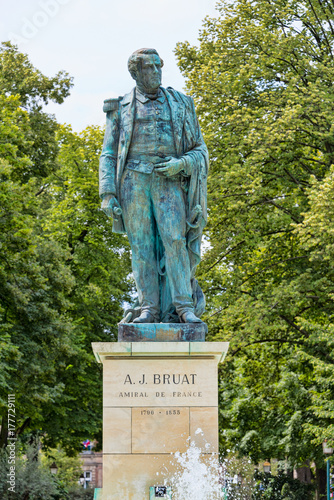
[[148, 500], [150, 486], [170, 484], [172, 454], [190, 440], [203, 460], [218, 452], [217, 366], [228, 343], [92, 347], [103, 363], [103, 500]]

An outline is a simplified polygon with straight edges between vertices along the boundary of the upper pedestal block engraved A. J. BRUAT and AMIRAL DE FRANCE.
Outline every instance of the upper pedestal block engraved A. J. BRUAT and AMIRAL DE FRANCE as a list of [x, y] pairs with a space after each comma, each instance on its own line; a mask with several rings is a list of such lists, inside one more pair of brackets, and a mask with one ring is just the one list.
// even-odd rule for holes
[[104, 406], [217, 406], [215, 360], [114, 360], [103, 372]]

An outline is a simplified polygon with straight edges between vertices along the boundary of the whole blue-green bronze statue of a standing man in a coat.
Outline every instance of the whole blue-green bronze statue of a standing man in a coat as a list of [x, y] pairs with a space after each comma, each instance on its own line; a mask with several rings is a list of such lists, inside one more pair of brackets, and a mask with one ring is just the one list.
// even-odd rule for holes
[[132, 250], [138, 303], [126, 322], [197, 323], [208, 152], [193, 100], [161, 87], [162, 66], [156, 50], [137, 50], [128, 61], [136, 87], [104, 102], [100, 196]]

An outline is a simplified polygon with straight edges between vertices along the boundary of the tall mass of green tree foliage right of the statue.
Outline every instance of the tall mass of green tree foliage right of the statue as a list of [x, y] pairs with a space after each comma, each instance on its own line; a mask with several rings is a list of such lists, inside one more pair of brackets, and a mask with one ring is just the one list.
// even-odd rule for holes
[[211, 156], [199, 280], [220, 368], [222, 449], [323, 466], [332, 437], [333, 42], [327, 1], [218, 3], [178, 45]]

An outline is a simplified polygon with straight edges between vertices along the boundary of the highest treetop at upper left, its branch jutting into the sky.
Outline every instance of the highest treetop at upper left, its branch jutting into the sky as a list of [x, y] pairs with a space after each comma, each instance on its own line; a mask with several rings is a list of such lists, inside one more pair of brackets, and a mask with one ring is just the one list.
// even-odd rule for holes
[[[10, 137], [7, 135], [9, 141], [6, 143], [2, 128], [0, 144], [4, 143], [14, 154], [29, 158], [28, 165], [13, 169], [13, 179], [23, 183], [35, 178], [36, 182], [42, 183], [46, 176], [57, 170], [57, 122], [53, 116], [43, 112], [42, 106], [49, 101], [61, 104], [69, 95], [71, 87], [72, 78], [67, 73], [61, 71], [48, 78], [34, 68], [28, 57], [18, 52], [10, 42], [0, 45], [0, 95], [1, 99], [10, 98], [15, 100], [16, 106], [20, 105], [9, 120], [11, 127], [21, 132], [19, 138], [14, 133]], [[1, 149], [0, 154], [2, 156]], [[11, 164], [15, 167], [15, 164]]]

